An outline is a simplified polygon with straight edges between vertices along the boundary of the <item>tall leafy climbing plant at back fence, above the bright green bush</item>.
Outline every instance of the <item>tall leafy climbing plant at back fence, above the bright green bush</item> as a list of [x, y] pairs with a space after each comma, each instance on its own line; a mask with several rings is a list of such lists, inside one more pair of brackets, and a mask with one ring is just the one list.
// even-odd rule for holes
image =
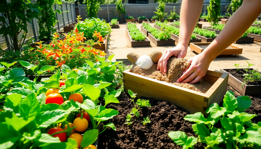
[[97, 18], [97, 13], [100, 9], [100, 4], [97, 0], [84, 0], [86, 3], [86, 10], [88, 12], [89, 18]]

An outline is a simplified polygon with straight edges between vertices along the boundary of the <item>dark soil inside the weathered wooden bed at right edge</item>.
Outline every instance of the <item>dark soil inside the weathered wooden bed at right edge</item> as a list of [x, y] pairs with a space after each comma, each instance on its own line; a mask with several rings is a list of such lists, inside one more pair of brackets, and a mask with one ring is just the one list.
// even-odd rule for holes
[[[250, 69], [252, 70], [252, 69]], [[243, 76], [246, 72], [242, 69], [239, 69], [238, 71], [234, 70], [234, 69], [230, 69], [230, 70], [226, 70], [228, 73], [230, 73], [232, 76], [236, 77], [237, 79], [239, 79], [241, 82], [244, 82], [244, 78], [245, 76]], [[247, 73], [250, 73], [250, 71], [248, 71]], [[261, 81], [254, 81], [254, 82], [246, 82], [247, 85], [261, 85]]]

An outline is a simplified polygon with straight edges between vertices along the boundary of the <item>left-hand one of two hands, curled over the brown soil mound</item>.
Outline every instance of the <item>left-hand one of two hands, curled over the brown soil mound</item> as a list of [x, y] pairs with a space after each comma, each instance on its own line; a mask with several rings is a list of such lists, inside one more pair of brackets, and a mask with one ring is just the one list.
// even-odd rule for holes
[[167, 72], [167, 62], [173, 55], [177, 58], [184, 58], [187, 55], [188, 47], [177, 45], [174, 48], [165, 50], [162, 57], [158, 61], [158, 68], [163, 75]]

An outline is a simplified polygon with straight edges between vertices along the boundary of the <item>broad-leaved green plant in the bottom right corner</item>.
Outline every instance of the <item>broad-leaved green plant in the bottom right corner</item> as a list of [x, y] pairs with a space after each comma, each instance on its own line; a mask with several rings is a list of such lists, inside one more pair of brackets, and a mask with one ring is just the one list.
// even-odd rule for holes
[[[210, 105], [206, 110], [209, 113], [207, 118], [200, 112], [184, 117], [184, 120], [194, 122], [192, 129], [198, 138], [189, 138], [180, 131], [169, 132], [169, 137], [183, 148], [192, 148], [197, 140], [206, 143], [206, 148], [260, 148], [261, 122], [252, 123], [251, 119], [257, 115], [244, 112], [250, 106], [251, 99], [248, 96], [235, 98], [233, 92], [227, 91], [223, 107], [217, 103]], [[222, 127], [216, 127], [216, 123]]]

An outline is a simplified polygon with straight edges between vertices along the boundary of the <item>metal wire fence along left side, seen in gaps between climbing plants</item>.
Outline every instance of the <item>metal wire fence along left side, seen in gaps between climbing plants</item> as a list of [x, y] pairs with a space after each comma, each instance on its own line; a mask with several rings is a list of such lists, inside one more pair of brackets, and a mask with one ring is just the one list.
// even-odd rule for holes
[[[63, 2], [61, 5], [59, 4], [55, 4], [53, 5], [53, 10], [55, 11], [60, 10], [62, 13], [59, 14], [56, 12], [56, 20], [58, 21], [55, 24], [55, 29], [56, 31], [60, 31], [63, 30], [63, 27], [73, 23], [76, 21], [76, 15], [75, 15], [75, 3], [67, 3], [67, 2]], [[3, 13], [0, 13], [0, 16], [3, 16]], [[33, 18], [32, 23], [27, 23], [27, 34], [26, 34], [26, 40], [28, 38], [34, 38], [35, 41], [38, 40], [38, 36], [39, 36], [39, 25], [38, 25], [38, 19], [37, 18]], [[1, 27], [0, 27], [1, 29]], [[21, 40], [22, 39], [22, 35], [25, 35], [25, 33], [21, 32], [18, 35], [18, 38]], [[9, 41], [9, 42], [8, 42]], [[2, 49], [10, 49], [10, 45], [8, 44], [12, 44], [12, 39], [9, 35], [6, 36], [0, 36], [0, 47]]]

